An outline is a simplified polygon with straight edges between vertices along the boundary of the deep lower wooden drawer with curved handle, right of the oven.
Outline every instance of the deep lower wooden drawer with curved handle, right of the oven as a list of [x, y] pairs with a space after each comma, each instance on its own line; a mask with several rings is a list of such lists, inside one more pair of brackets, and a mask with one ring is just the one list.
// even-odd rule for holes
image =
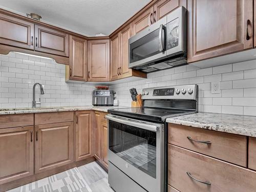
[[255, 180], [254, 171], [168, 144], [168, 184], [179, 191], [255, 192]]

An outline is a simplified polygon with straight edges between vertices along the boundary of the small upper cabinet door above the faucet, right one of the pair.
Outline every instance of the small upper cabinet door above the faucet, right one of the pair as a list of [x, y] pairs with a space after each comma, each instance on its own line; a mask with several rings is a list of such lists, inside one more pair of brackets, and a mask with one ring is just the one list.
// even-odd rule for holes
[[69, 34], [35, 25], [35, 51], [69, 57]]

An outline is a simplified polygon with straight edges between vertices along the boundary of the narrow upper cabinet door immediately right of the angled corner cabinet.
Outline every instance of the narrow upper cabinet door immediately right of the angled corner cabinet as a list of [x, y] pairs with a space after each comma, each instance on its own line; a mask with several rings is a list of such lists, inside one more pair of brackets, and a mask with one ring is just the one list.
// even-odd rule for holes
[[120, 76], [120, 65], [119, 65], [119, 36], [118, 33], [112, 37], [110, 42], [110, 53], [111, 53], [111, 70], [110, 76], [111, 81], [118, 79]]

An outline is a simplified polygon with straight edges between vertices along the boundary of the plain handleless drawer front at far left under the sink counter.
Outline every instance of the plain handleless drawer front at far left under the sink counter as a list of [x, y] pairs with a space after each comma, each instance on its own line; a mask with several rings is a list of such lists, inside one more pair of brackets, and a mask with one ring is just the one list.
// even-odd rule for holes
[[34, 114], [0, 115], [0, 129], [34, 125]]

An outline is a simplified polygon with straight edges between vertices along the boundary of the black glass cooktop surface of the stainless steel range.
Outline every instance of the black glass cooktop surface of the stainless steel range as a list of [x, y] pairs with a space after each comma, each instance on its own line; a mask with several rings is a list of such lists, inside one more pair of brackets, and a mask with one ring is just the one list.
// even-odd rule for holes
[[109, 109], [109, 113], [133, 117], [148, 121], [164, 122], [166, 118], [173, 116], [180, 116], [190, 113], [189, 110], [163, 109], [153, 107], [135, 107], [135, 108], [119, 108]]

